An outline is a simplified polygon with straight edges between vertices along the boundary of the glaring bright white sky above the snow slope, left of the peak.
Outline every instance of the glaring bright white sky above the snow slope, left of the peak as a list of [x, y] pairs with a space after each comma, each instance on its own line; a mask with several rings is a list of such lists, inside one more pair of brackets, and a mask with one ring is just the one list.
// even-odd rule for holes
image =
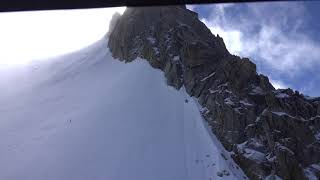
[[76, 51], [102, 38], [125, 7], [0, 13], [0, 66]]

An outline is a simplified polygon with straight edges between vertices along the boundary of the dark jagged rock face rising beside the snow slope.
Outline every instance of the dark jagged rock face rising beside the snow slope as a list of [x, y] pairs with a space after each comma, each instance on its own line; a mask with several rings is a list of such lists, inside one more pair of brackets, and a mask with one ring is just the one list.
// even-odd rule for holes
[[144, 58], [169, 85], [197, 97], [212, 131], [248, 177], [275, 173], [300, 180], [319, 166], [319, 98], [275, 90], [254, 63], [231, 55], [185, 6], [127, 8], [114, 23], [113, 56]]

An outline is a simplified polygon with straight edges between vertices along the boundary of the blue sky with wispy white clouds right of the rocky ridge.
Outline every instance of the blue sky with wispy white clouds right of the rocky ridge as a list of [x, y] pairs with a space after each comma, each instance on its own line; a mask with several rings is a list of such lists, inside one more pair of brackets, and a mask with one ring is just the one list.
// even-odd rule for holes
[[192, 5], [228, 50], [256, 63], [276, 87], [320, 96], [320, 2]]

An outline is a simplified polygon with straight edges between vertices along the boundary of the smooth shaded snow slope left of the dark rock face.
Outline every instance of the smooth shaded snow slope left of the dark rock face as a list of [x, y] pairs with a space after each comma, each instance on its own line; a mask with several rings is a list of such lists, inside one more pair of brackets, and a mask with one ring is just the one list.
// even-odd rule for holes
[[[145, 60], [113, 59], [106, 40], [46, 64], [0, 69], [0, 77], [0, 179], [243, 176], [184, 89], [167, 86]], [[230, 175], [217, 176], [222, 170]]]

